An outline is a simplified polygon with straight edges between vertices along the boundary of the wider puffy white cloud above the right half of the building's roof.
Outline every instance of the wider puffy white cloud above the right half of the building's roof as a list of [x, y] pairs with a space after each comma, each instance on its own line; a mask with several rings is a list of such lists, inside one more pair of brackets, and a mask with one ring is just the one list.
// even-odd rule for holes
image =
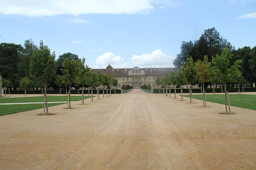
[[141, 68], [145, 67], [173, 67], [174, 57], [164, 54], [160, 49], [153, 51], [151, 54], [132, 56], [132, 65]]

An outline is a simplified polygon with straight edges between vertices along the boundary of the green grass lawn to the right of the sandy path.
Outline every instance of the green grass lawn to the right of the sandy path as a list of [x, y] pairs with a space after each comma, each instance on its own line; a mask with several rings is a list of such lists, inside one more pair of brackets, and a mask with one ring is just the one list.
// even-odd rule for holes
[[[184, 95], [184, 97], [189, 98], [189, 95]], [[192, 97], [193, 99], [203, 100], [203, 95], [193, 95]], [[228, 94], [228, 97], [231, 106], [256, 110], [256, 95]], [[206, 101], [225, 104], [225, 94], [208, 94], [206, 95]]]

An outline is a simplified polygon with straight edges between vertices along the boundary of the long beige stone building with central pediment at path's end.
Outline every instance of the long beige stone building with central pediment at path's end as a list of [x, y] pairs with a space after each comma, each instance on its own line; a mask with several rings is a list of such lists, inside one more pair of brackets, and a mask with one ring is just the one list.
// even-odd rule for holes
[[140, 88], [144, 84], [152, 88], [156, 88], [156, 78], [158, 76], [164, 76], [165, 73], [169, 73], [174, 68], [113, 68], [110, 64], [106, 69], [93, 69], [93, 72], [109, 74], [110, 76], [118, 80], [118, 87], [123, 85], [130, 85], [133, 88]]

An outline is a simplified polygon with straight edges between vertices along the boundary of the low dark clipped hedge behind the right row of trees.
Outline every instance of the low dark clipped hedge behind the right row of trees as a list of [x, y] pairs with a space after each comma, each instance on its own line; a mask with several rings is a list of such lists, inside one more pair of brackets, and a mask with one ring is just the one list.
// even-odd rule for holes
[[[240, 89], [240, 92], [242, 92], [242, 88], [239, 88]], [[188, 93], [188, 88], [183, 88], [182, 89], [182, 92], [183, 93]], [[206, 88], [204, 89], [206, 93], [213, 93], [213, 88]], [[221, 88], [214, 88], [215, 92], [216, 93], [221, 93]], [[161, 93], [166, 93], [166, 89], [160, 89], [160, 92]], [[223, 88], [223, 91], [224, 91], [224, 88]], [[232, 92], [238, 92], [238, 88], [227, 88], [227, 91], [229, 93], [232, 93]], [[256, 88], [255, 87], [245, 87], [244, 88], [244, 92], [256, 92]], [[158, 94], [159, 93], [159, 89], [154, 89], [153, 90], [153, 93], [154, 94]], [[169, 93], [169, 89], [168, 89], [168, 93]], [[174, 88], [171, 88], [171, 93], [174, 93]], [[180, 89], [179, 88], [176, 88], [176, 93], [180, 93]], [[192, 88], [192, 93], [201, 93], [201, 89], [200, 88]]]

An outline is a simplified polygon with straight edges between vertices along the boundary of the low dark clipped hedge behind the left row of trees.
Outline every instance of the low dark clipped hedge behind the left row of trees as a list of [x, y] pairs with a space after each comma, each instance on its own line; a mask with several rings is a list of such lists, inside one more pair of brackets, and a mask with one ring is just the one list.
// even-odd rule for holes
[[[47, 90], [47, 94], [66, 94], [66, 90]], [[6, 90], [8, 93], [8, 91]], [[42, 90], [26, 90], [27, 94], [42, 94]], [[24, 90], [10, 90], [11, 94], [24, 94]], [[77, 90], [70, 90], [71, 94], [77, 94]], [[91, 90], [90, 90], [91, 93]], [[121, 94], [121, 90], [116, 89], [117, 94]], [[79, 94], [82, 94], [82, 90], [79, 90]], [[88, 90], [84, 90], [84, 94], [88, 94]], [[93, 90], [93, 94], [97, 94], [97, 90]], [[103, 94], [103, 89], [100, 89], [100, 94]], [[107, 94], [107, 90], [104, 90], [104, 94]], [[110, 90], [108, 90], [110, 94]], [[111, 94], [114, 94], [114, 90], [111, 90]]]

